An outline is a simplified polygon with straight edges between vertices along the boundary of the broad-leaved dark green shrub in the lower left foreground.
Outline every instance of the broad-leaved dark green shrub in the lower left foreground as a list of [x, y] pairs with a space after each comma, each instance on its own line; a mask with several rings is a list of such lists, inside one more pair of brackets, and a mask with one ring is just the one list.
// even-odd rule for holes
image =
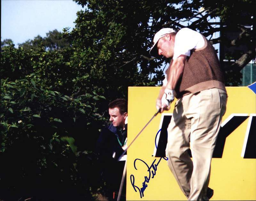
[[[2, 79], [1, 195], [48, 199], [57, 189], [52, 196], [59, 199], [76, 197], [76, 191], [90, 198], [93, 181], [81, 181], [92, 176], [85, 173], [96, 159], [92, 142], [102, 118], [95, 99], [101, 98], [95, 92], [76, 98], [61, 94], [36, 73], [13, 82]], [[80, 166], [88, 170], [78, 171]]]

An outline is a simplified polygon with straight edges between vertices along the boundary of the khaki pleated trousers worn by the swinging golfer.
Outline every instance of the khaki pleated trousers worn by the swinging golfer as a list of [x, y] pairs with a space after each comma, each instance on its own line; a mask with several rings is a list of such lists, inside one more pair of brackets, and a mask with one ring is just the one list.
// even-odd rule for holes
[[188, 200], [208, 200], [212, 154], [226, 104], [227, 92], [217, 88], [185, 95], [175, 103], [165, 151], [168, 166]]

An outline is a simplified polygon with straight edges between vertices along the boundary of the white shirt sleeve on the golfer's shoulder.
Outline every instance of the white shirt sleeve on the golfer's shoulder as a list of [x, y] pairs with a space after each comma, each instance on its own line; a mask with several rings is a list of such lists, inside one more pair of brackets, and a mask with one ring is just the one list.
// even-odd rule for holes
[[190, 56], [190, 50], [198, 49], [204, 46], [204, 37], [189, 28], [182, 28], [175, 36], [173, 59], [181, 54]]

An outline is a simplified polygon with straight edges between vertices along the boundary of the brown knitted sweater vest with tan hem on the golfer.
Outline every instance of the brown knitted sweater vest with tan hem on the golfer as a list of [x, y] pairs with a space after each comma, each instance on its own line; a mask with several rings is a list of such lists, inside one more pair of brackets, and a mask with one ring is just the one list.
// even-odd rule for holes
[[[184, 71], [175, 87], [175, 97], [211, 88], [225, 89], [225, 81], [220, 69], [220, 62], [210, 42], [204, 38], [203, 49], [190, 51], [185, 61]], [[206, 46], [206, 47], [205, 47]], [[170, 67], [166, 70], [169, 79]]]

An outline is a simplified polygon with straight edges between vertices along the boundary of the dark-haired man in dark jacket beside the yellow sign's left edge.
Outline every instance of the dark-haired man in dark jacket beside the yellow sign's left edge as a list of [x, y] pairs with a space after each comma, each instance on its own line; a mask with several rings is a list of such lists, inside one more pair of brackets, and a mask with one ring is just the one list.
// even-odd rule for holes
[[116, 199], [124, 170], [124, 161], [118, 161], [118, 158], [127, 147], [127, 101], [119, 98], [110, 102], [108, 113], [111, 124], [102, 129], [96, 150], [99, 153], [102, 176], [109, 190], [108, 197]]

